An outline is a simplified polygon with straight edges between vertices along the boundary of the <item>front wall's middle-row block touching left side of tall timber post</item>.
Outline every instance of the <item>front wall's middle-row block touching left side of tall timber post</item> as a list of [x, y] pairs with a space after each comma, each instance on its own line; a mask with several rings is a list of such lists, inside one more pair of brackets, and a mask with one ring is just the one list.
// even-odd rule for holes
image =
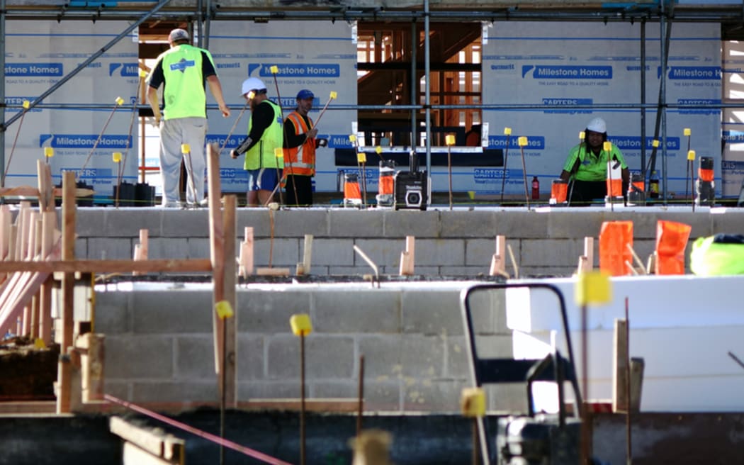
[[175, 379], [198, 382], [215, 376], [214, 338], [211, 333], [176, 338]]

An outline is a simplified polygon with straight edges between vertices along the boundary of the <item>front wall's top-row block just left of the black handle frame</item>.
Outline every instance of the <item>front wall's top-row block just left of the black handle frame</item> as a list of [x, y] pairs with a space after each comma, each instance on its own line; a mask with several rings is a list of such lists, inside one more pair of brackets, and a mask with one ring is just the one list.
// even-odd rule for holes
[[442, 336], [463, 333], [459, 291], [403, 291], [403, 332]]

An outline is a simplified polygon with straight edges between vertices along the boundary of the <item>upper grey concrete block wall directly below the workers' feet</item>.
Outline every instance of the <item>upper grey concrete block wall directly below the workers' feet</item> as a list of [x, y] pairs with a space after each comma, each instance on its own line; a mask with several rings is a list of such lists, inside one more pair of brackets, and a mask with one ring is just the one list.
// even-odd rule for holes
[[[304, 234], [315, 238], [312, 275], [357, 275], [371, 272], [353, 250], [359, 246], [379, 266], [397, 274], [405, 237], [416, 237], [417, 275], [472, 276], [487, 274], [495, 237], [507, 237], [520, 276], [568, 276], [583, 254], [583, 238], [594, 237], [594, 265], [599, 264], [598, 240], [604, 221], [634, 224], [634, 248], [647, 257], [655, 248], [659, 219], [692, 226], [690, 242], [719, 232], [742, 233], [744, 209], [716, 213], [698, 208], [524, 209], [475, 208], [471, 211], [391, 211], [307, 208], [269, 212], [240, 208], [237, 240], [246, 226], [254, 228], [254, 263], [294, 269], [301, 260]], [[161, 208], [80, 208], [76, 254], [80, 258], [129, 258], [140, 228], [150, 234], [152, 258], [209, 257], [208, 211]], [[272, 240], [273, 237], [273, 240]], [[687, 248], [689, 255], [689, 246]], [[511, 260], [507, 272], [514, 275]]]

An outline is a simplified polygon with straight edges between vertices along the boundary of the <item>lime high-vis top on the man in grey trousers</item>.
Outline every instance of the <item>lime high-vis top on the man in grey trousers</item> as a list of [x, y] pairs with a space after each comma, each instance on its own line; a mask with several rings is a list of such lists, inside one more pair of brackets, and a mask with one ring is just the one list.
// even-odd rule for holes
[[207, 117], [207, 95], [202, 76], [202, 59], [205, 55], [212, 61], [208, 51], [182, 44], [158, 57], [158, 60], [163, 60], [165, 119]]

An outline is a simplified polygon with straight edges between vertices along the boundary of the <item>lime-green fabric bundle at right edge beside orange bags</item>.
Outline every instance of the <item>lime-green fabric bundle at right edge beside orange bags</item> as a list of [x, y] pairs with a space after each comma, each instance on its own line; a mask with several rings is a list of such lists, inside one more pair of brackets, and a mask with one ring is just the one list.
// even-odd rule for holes
[[744, 244], [699, 237], [690, 251], [690, 271], [699, 276], [744, 275]]

